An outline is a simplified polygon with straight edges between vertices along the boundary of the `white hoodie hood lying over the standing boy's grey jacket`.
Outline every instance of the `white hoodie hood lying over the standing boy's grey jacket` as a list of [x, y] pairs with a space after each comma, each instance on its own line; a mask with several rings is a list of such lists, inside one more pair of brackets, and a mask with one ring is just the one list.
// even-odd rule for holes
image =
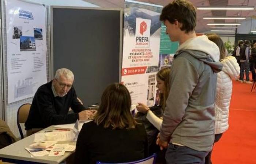
[[195, 50], [202, 51], [207, 55], [210, 55], [214, 62], [219, 61], [219, 47], [209, 40], [206, 35], [197, 36], [195, 38], [190, 38], [186, 42], [182, 43], [176, 54], [184, 50]]

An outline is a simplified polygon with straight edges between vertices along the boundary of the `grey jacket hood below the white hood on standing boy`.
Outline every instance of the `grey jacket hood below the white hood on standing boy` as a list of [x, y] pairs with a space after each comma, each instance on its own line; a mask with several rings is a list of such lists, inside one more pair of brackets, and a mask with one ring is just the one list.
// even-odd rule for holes
[[202, 62], [206, 63], [207, 65], [211, 66], [212, 70], [215, 73], [218, 73], [222, 70], [222, 63], [221, 62], [214, 62], [214, 60], [211, 58], [210, 55], [206, 54], [202, 51], [196, 51], [196, 50], [181, 50], [178, 54], [174, 55], [174, 59], [176, 56], [181, 54], [182, 52], [186, 52], [190, 55], [192, 55], [194, 58], [201, 60]]

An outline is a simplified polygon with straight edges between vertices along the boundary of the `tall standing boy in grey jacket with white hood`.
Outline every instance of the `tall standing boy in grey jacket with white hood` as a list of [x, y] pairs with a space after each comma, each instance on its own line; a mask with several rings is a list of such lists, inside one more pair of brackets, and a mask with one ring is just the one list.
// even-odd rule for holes
[[214, 102], [218, 46], [207, 36], [196, 36], [196, 9], [191, 2], [174, 0], [162, 9], [160, 20], [172, 42], [179, 42], [170, 73], [157, 144], [167, 148], [166, 163], [204, 164], [214, 142]]

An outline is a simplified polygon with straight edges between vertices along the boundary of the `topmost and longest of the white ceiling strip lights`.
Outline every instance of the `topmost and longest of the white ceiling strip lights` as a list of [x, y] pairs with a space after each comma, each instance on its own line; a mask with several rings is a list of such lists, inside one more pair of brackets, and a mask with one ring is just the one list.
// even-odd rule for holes
[[198, 10], [254, 10], [254, 7], [246, 6], [202, 6]]

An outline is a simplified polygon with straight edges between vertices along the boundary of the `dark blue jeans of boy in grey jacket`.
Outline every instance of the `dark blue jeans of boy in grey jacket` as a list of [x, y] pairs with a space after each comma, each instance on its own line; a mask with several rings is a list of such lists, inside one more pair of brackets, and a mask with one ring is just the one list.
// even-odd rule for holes
[[167, 164], [204, 164], [208, 152], [196, 151], [189, 147], [169, 144], [165, 159]]

